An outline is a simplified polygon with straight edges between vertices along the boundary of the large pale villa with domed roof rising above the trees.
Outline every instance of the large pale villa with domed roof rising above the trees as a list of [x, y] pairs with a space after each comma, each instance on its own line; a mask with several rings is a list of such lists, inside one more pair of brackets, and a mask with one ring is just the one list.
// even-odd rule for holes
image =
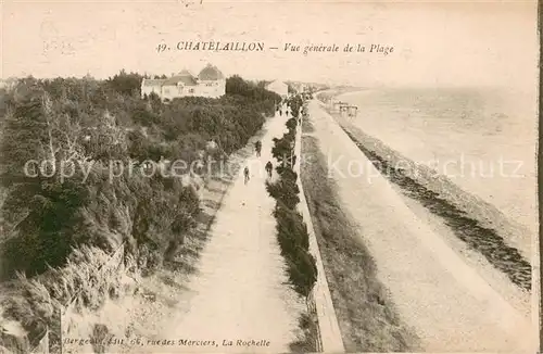
[[165, 79], [147, 79], [141, 81], [141, 97], [156, 93], [162, 100], [181, 97], [218, 98], [226, 93], [226, 78], [223, 73], [207, 64], [198, 76], [187, 69]]

